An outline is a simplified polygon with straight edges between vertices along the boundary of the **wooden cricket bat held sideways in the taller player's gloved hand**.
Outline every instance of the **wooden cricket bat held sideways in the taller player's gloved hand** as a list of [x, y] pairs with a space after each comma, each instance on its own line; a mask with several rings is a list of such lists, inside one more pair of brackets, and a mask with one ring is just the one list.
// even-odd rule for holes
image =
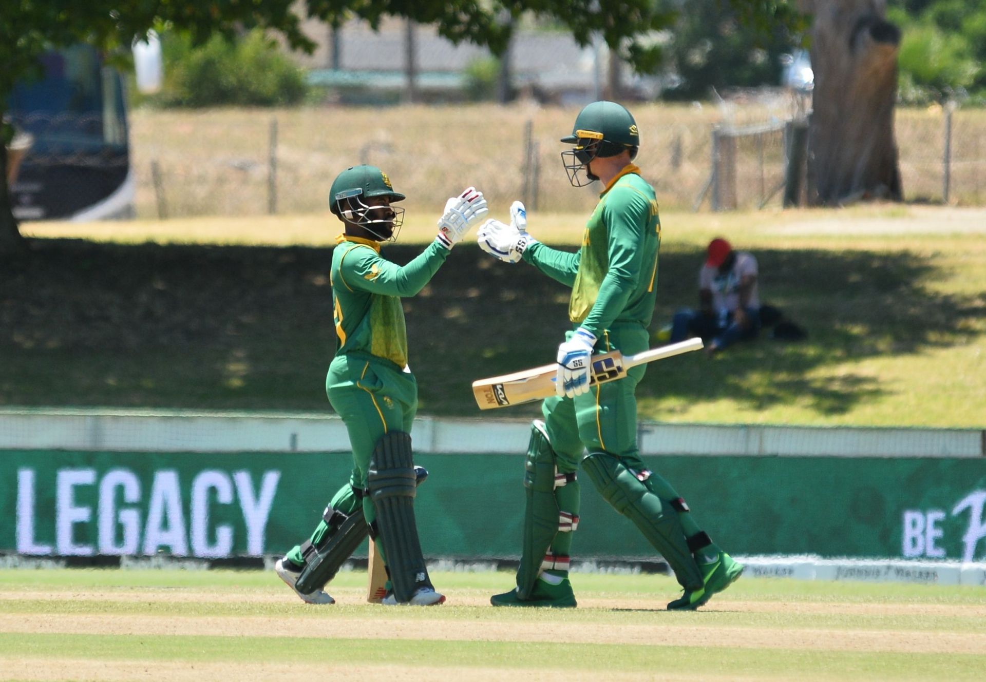
[[[661, 348], [652, 348], [636, 355], [624, 356], [619, 351], [593, 356], [593, 369], [590, 385], [613, 381], [626, 376], [632, 367], [664, 360], [671, 356], [697, 351], [702, 348], [702, 339], [693, 338], [671, 343]], [[480, 410], [495, 410], [508, 405], [520, 405], [532, 400], [541, 400], [555, 394], [555, 375], [558, 365], [544, 365], [513, 375], [492, 376], [472, 382], [472, 393]]]

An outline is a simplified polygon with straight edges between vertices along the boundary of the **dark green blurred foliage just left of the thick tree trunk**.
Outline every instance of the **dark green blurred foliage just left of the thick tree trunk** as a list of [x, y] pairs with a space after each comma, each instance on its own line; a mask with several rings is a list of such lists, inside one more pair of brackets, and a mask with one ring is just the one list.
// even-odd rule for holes
[[715, 88], [776, 86], [783, 53], [794, 44], [790, 25], [758, 26], [721, 0], [691, 0], [668, 46], [669, 66], [680, 82], [669, 100], [704, 100]]

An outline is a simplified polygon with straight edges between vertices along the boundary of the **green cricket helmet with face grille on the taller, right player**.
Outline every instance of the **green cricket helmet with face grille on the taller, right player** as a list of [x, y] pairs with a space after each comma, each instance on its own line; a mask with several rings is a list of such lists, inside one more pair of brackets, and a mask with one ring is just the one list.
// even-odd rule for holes
[[[589, 184], [599, 177], [589, 171], [593, 159], [614, 157], [627, 150], [630, 159], [637, 156], [640, 132], [637, 122], [626, 108], [616, 102], [592, 102], [579, 111], [572, 126], [572, 134], [561, 138], [562, 142], [575, 146], [561, 153], [562, 164], [568, 180], [576, 187]], [[586, 171], [588, 182], [583, 182], [579, 171]]]

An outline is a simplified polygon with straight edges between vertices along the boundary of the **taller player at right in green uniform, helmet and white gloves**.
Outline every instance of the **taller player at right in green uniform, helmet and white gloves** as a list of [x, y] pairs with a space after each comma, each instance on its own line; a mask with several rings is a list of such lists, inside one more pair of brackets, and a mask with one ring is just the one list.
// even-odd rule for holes
[[[575, 119], [562, 161], [574, 186], [599, 180], [599, 204], [582, 248], [550, 248], [527, 232], [524, 205], [511, 224], [487, 221], [480, 247], [507, 262], [526, 260], [572, 287], [573, 330], [558, 347], [557, 395], [544, 400], [544, 420], [528, 444], [524, 547], [517, 588], [492, 597], [494, 606], [575, 606], [568, 578], [572, 532], [579, 525], [580, 464], [599, 494], [640, 529], [684, 589], [671, 610], [696, 609], [742, 573], [712, 542], [668, 481], [651, 471], [637, 448], [634, 391], [646, 365], [625, 378], [590, 385], [590, 357], [648, 348], [655, 304], [661, 221], [654, 188], [632, 164], [640, 145], [633, 116], [616, 102], [593, 102]], [[588, 451], [585, 458], [583, 453]]]

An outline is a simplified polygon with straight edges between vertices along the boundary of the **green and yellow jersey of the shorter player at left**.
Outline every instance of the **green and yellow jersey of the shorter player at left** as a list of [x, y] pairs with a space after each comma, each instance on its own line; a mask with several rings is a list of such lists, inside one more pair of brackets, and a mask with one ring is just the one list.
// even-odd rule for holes
[[380, 254], [378, 242], [340, 235], [330, 277], [336, 355], [368, 353], [405, 367], [407, 330], [400, 299], [420, 292], [448, 256], [449, 249], [433, 241], [401, 266]]

